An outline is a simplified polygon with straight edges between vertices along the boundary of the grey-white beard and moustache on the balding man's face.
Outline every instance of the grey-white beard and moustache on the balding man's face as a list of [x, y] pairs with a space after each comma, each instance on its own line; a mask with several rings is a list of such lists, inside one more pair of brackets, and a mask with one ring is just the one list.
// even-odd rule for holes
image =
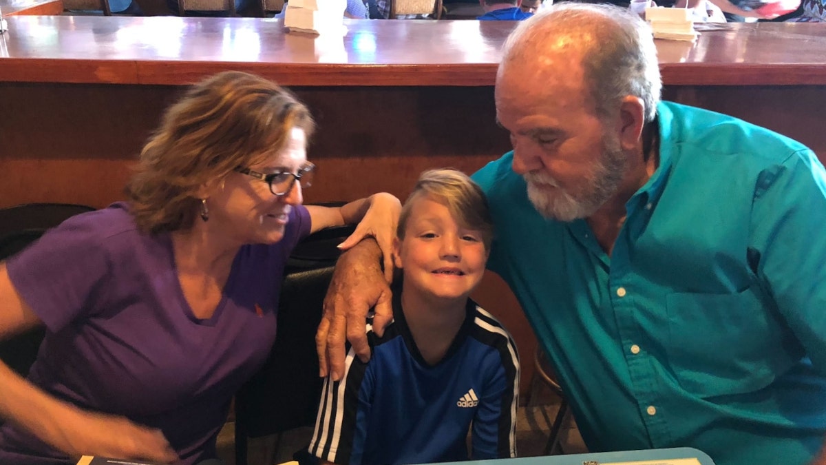
[[525, 173], [523, 177], [534, 208], [545, 218], [568, 222], [588, 218], [600, 209], [619, 189], [626, 165], [619, 141], [605, 141], [601, 159], [591, 166], [585, 192], [571, 194], [542, 171]]

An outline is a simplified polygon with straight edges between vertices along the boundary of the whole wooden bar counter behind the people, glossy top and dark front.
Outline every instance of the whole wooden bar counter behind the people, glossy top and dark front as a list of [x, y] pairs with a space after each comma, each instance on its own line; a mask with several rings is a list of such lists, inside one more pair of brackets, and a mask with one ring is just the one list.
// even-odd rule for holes
[[[421, 170], [476, 170], [509, 150], [493, 84], [513, 22], [355, 21], [339, 37], [278, 20], [9, 17], [0, 36], [0, 207], [121, 199], [129, 167], [184, 84], [246, 70], [311, 108], [319, 166], [307, 202], [408, 194]], [[826, 156], [826, 28], [757, 23], [657, 41], [664, 98], [770, 127]], [[542, 83], [536, 83], [542, 85]], [[481, 303], [515, 334], [523, 380], [535, 341], [509, 293]], [[505, 315], [505, 316], [503, 316]], [[526, 386], [525, 386], [526, 387]], [[525, 389], [523, 389], [525, 391]]]

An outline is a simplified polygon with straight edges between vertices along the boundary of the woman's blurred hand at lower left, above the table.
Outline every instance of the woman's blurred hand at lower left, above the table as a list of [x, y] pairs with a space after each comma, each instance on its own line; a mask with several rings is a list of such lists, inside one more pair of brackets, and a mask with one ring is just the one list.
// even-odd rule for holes
[[55, 418], [42, 439], [70, 456], [96, 455], [107, 458], [177, 463], [180, 459], [159, 429], [131, 422], [126, 417], [106, 415], [68, 406], [64, 418]]

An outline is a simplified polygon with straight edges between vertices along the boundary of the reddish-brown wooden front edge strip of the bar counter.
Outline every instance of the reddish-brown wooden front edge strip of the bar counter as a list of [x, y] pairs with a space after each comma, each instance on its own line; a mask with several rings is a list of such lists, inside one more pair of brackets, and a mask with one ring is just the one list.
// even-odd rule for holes
[[[288, 86], [492, 86], [496, 64], [342, 65], [225, 61], [0, 58], [0, 82], [186, 85], [242, 70]], [[801, 65], [662, 64], [665, 85], [826, 85], [826, 62]]]

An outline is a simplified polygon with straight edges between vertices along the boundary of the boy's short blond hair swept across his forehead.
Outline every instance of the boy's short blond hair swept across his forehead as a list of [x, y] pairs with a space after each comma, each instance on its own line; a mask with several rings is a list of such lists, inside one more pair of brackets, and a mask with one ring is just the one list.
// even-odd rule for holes
[[433, 199], [448, 208], [450, 215], [462, 228], [482, 233], [482, 242], [489, 250], [493, 240], [493, 221], [487, 209], [487, 199], [482, 188], [468, 175], [453, 169], [427, 170], [419, 176], [413, 192], [401, 208], [396, 236], [405, 238], [407, 221], [415, 200], [422, 197]]

